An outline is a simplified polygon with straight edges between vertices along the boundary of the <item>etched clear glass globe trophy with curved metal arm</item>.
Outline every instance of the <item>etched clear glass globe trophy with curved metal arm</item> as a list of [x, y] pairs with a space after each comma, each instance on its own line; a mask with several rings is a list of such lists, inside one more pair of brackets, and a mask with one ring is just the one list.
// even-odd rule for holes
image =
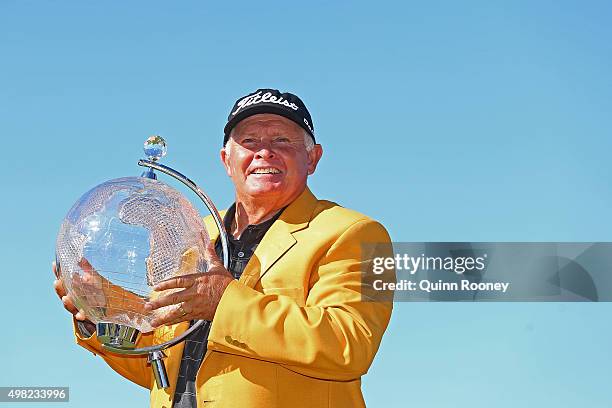
[[140, 177], [106, 181], [85, 193], [70, 209], [56, 242], [56, 264], [75, 306], [96, 325], [102, 346], [119, 354], [148, 354], [157, 387], [169, 386], [163, 350], [204, 324], [165, 343], [136, 348], [142, 333], [153, 331], [151, 321], [176, 308], [146, 311], [145, 303], [164, 292], [157, 283], [183, 274], [206, 272], [206, 227], [195, 207], [177, 190], [158, 181], [155, 170], [189, 187], [210, 211], [219, 229], [223, 264], [229, 266], [223, 222], [210, 198], [189, 178], [158, 163], [167, 146], [161, 136], [144, 143], [147, 159]]

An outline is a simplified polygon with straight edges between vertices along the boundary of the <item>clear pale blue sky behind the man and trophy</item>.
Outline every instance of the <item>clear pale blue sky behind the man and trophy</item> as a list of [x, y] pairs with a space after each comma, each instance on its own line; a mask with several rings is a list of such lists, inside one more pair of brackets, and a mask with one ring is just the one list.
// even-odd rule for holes
[[[612, 241], [611, 18], [595, 0], [0, 1], [0, 386], [148, 403], [72, 340], [59, 224], [90, 187], [140, 174], [153, 133], [231, 203], [222, 128], [259, 87], [309, 106], [312, 190], [395, 241]], [[398, 304], [366, 402], [610, 407], [611, 311]]]

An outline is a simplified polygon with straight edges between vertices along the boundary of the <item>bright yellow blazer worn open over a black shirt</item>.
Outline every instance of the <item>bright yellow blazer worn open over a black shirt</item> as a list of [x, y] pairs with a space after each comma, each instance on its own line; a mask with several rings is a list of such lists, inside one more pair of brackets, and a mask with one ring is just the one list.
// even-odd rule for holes
[[[218, 237], [208, 220], [211, 239]], [[362, 407], [361, 376], [378, 350], [391, 302], [361, 298], [362, 244], [389, 243], [382, 225], [308, 188], [270, 227], [240, 280], [217, 308], [196, 378], [199, 407]], [[392, 256], [384, 246], [373, 256]], [[178, 336], [187, 322], [141, 335], [138, 347]], [[172, 406], [183, 343], [165, 351], [170, 388], [154, 384], [146, 356], [77, 343], [151, 390], [151, 407]]]

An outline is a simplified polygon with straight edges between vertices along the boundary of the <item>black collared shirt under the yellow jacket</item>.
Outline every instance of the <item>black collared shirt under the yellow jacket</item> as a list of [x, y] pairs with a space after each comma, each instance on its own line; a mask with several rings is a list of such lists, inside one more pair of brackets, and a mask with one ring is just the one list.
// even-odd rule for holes
[[[230, 261], [228, 269], [232, 275], [234, 275], [235, 279], [240, 279], [255, 249], [257, 249], [257, 246], [266, 232], [268, 232], [272, 224], [274, 224], [274, 221], [280, 217], [282, 212], [283, 210], [280, 210], [274, 217], [261, 224], [249, 225], [238, 239], [228, 234]], [[225, 217], [223, 217], [223, 224], [226, 231], [232, 230], [235, 214], [236, 204], [232, 204], [227, 210]], [[217, 239], [215, 243], [215, 251], [217, 255], [222, 258], [220, 239]], [[193, 323], [194, 322], [191, 322], [191, 324]], [[208, 341], [209, 331], [210, 322], [206, 322], [206, 324], [193, 332], [189, 338], [185, 340], [183, 358], [181, 359], [179, 375], [176, 381], [176, 391], [174, 393], [174, 408], [196, 408], [197, 406], [195, 379], [200, 369], [200, 365], [202, 364], [202, 359], [206, 354], [206, 342]]]

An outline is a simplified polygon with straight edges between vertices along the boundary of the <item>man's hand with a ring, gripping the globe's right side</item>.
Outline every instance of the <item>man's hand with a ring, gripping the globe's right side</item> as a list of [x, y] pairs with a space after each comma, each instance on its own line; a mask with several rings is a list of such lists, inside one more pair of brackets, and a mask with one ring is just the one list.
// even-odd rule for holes
[[225, 288], [234, 277], [223, 267], [212, 243], [204, 253], [208, 271], [177, 276], [158, 283], [155, 291], [182, 288], [183, 290], [160, 296], [145, 304], [145, 310], [155, 310], [163, 306], [178, 305], [172, 311], [159, 316], [151, 322], [153, 327], [171, 325], [190, 320], [212, 320]]

